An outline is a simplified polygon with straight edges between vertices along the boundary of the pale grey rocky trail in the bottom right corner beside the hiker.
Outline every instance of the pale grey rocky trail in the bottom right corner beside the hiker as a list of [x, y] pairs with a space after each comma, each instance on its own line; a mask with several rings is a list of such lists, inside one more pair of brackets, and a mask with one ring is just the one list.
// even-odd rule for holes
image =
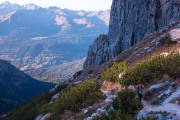
[[[162, 85], [162, 83], [160, 83], [159, 86], [160, 85]], [[158, 84], [156, 86], [158, 86]], [[153, 86], [151, 86], [151, 88], [153, 88]], [[180, 120], [180, 105], [178, 101], [180, 98], [180, 87], [177, 87], [174, 92], [171, 92], [171, 87], [169, 87], [160, 95], [162, 96], [162, 94], [168, 95], [168, 97], [163, 100], [161, 104], [154, 105], [149, 101], [142, 101], [143, 109], [141, 109], [137, 115], [138, 120], [147, 117], [157, 118], [158, 120]], [[157, 97], [161, 99], [161, 96]], [[172, 100], [175, 100], [175, 103], [172, 103]]]

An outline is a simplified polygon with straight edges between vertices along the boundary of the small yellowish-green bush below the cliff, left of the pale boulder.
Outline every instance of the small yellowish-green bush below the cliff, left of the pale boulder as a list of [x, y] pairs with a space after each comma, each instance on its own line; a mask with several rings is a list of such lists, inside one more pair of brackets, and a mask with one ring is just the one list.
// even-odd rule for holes
[[115, 62], [110, 68], [101, 74], [101, 77], [106, 81], [119, 82], [119, 74], [126, 70], [126, 62]]

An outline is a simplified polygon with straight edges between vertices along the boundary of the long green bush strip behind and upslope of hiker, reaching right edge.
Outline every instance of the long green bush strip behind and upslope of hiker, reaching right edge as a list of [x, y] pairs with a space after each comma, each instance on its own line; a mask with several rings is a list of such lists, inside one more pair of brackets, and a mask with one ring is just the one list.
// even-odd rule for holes
[[129, 68], [120, 79], [123, 85], [145, 83], [150, 80], [157, 80], [164, 74], [170, 77], [180, 75], [180, 55], [170, 54], [168, 56], [158, 55], [151, 57], [135, 68]]

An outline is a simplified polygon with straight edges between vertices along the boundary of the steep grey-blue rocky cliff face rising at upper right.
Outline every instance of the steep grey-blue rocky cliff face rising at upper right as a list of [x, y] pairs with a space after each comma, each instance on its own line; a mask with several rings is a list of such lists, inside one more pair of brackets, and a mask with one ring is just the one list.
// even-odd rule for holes
[[109, 32], [89, 47], [84, 69], [98, 67], [178, 20], [179, 0], [113, 0]]

